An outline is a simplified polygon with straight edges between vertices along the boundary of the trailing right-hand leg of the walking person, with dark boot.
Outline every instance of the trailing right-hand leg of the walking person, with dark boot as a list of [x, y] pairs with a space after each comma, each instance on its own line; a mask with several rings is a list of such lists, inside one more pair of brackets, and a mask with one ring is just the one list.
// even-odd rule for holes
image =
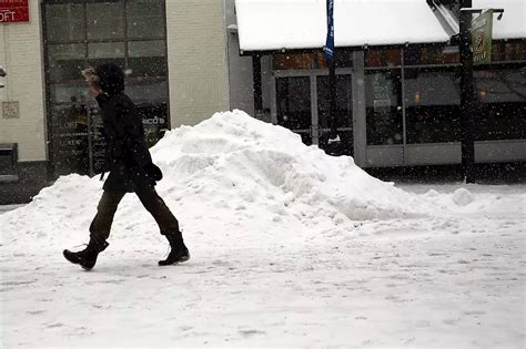
[[136, 188], [135, 194], [139, 196], [144, 208], [148, 209], [158, 223], [161, 234], [170, 243], [170, 255], [165, 260], [160, 260], [159, 265], [166, 266], [189, 260], [189, 249], [184, 245], [183, 236], [179, 229], [179, 222], [166, 204], [164, 204], [164, 201], [158, 195], [155, 188], [150, 185], [143, 185]]

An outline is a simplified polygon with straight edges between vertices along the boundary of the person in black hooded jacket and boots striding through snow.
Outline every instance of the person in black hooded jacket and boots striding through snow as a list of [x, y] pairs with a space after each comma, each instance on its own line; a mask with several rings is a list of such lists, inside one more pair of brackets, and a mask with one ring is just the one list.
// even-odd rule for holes
[[97, 207], [97, 215], [90, 225], [88, 246], [77, 253], [64, 249], [65, 259], [87, 270], [94, 267], [99, 254], [109, 246], [107, 239], [113, 216], [127, 193], [136, 194], [170, 243], [170, 254], [159, 265], [166, 266], [190, 259], [178, 219], [155, 192], [154, 186], [162, 178], [162, 172], [152, 163], [136, 107], [124, 94], [123, 71], [118, 65], [108, 63], [82, 73], [90, 93], [95, 96], [102, 110], [107, 170], [110, 174], [103, 185], [104, 192]]

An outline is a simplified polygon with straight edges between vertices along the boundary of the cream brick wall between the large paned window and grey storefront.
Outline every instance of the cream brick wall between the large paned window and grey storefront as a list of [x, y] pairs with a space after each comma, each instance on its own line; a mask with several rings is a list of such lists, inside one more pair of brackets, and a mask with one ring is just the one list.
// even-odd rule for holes
[[172, 127], [230, 110], [224, 0], [166, 1]]

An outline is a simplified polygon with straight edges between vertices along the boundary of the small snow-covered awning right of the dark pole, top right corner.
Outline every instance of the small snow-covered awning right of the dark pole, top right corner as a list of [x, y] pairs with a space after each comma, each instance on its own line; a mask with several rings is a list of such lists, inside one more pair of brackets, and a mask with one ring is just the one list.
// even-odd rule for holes
[[504, 9], [503, 18], [493, 20], [493, 39], [526, 39], [525, 0], [473, 0], [474, 9]]

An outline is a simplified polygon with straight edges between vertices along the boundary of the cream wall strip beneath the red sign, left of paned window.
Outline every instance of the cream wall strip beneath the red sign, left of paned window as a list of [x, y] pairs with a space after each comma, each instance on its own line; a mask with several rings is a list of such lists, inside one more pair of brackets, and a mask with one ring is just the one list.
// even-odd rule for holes
[[[29, 1], [30, 22], [0, 23], [0, 65], [8, 72], [0, 89], [0, 143], [18, 143], [19, 161], [47, 158], [44, 86], [39, 1]], [[3, 112], [18, 102], [18, 115]]]

